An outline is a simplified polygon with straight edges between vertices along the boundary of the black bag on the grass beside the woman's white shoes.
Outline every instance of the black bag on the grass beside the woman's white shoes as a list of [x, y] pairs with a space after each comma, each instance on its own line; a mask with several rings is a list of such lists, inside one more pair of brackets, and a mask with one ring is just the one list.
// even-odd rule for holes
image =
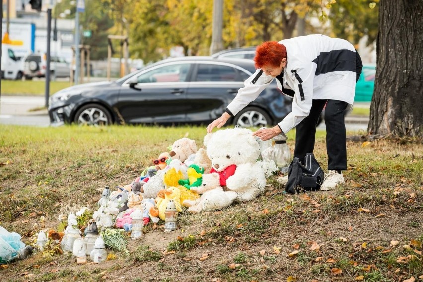
[[294, 158], [289, 165], [286, 192], [297, 194], [320, 189], [325, 174], [312, 153], [308, 153], [302, 165], [299, 158]]

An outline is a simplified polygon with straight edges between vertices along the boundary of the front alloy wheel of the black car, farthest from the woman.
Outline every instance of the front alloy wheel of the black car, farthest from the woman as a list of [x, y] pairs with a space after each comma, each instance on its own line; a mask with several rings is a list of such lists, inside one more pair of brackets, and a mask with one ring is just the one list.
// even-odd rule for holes
[[79, 125], [109, 125], [112, 118], [103, 106], [89, 104], [79, 109], [75, 115], [75, 122]]

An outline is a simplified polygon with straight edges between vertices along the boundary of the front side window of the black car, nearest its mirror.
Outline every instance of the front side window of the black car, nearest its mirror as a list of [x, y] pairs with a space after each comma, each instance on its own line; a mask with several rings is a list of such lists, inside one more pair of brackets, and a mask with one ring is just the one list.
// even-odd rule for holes
[[138, 83], [185, 82], [190, 64], [173, 64], [148, 71], [137, 77]]

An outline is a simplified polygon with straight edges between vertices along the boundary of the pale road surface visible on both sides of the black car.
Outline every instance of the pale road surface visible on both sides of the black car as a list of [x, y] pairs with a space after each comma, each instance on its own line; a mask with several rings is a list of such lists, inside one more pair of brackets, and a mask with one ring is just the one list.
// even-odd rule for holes
[[[47, 127], [50, 119], [47, 110], [30, 111], [44, 107], [44, 96], [1, 96], [0, 99], [0, 124], [27, 125]], [[368, 104], [357, 104], [357, 107], [368, 107]], [[345, 126], [351, 131], [367, 131], [368, 118], [345, 118]], [[318, 129], [326, 129], [322, 122]]]

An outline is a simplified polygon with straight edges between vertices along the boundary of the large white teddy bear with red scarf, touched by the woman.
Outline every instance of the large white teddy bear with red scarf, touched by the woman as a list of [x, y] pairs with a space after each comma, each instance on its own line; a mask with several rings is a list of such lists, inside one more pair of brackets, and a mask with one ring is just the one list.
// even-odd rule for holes
[[210, 172], [220, 175], [225, 191], [237, 192], [239, 201], [250, 201], [264, 191], [266, 177], [256, 163], [260, 148], [251, 130], [219, 130], [206, 135], [204, 144], [211, 159]]

